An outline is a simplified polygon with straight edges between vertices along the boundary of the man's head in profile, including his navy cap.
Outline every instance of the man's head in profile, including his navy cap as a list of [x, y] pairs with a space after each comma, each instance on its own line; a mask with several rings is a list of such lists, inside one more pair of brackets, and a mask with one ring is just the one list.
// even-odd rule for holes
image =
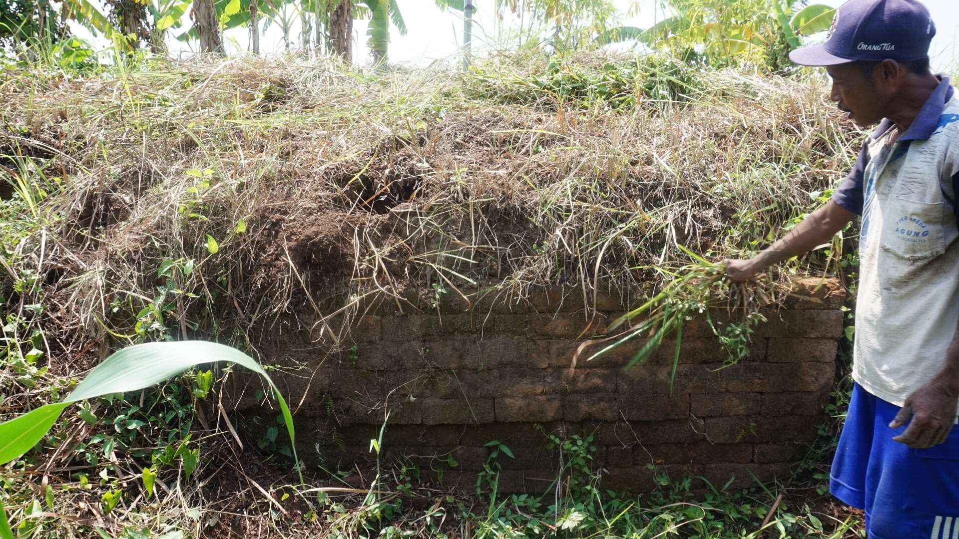
[[928, 76], [936, 26], [917, 0], [850, 0], [832, 19], [826, 43], [789, 59], [825, 66], [830, 97], [860, 126], [881, 120], [917, 77]]

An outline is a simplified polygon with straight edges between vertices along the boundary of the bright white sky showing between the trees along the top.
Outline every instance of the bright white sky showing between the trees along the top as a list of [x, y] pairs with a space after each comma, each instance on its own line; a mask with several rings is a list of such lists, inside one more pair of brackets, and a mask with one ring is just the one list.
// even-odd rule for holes
[[[102, 0], [95, 0], [99, 2]], [[823, 3], [838, 6], [844, 0], [812, 0], [810, 3]], [[507, 16], [502, 22], [498, 21], [494, 13], [495, 0], [474, 0], [477, 14], [474, 22], [474, 47], [482, 49], [492, 47], [500, 41], [498, 35], [503, 27], [515, 26], [518, 22], [514, 17]], [[462, 13], [441, 12], [433, 0], [397, 0], [400, 12], [406, 21], [409, 32], [400, 35], [395, 28], [390, 29], [389, 61], [391, 63], [406, 64], [409, 66], [426, 66], [434, 61], [456, 61], [459, 43], [462, 39]], [[614, 0], [617, 8], [623, 13], [622, 23], [629, 26], [648, 28], [656, 21], [667, 16], [658, 0]], [[955, 16], [956, 0], [924, 0], [932, 18], [936, 23], [937, 32], [932, 41], [930, 57], [933, 68], [938, 71], [955, 70], [959, 67], [959, 17]], [[626, 13], [632, 12], [632, 16]], [[188, 16], [184, 20], [189, 21]], [[366, 49], [366, 21], [356, 21], [353, 27], [354, 59], [360, 63], [370, 62]], [[82, 29], [75, 29], [78, 35], [88, 35]], [[181, 31], [173, 31], [179, 33]], [[299, 35], [298, 24], [292, 33], [294, 38]], [[813, 37], [815, 42], [822, 36]], [[245, 51], [248, 46], [249, 35], [245, 28], [229, 30], [225, 33], [228, 51]], [[192, 44], [196, 47], [196, 43]], [[283, 51], [283, 40], [279, 29], [273, 25], [261, 37], [261, 52]], [[174, 54], [189, 54], [190, 45], [171, 39], [170, 47]]]

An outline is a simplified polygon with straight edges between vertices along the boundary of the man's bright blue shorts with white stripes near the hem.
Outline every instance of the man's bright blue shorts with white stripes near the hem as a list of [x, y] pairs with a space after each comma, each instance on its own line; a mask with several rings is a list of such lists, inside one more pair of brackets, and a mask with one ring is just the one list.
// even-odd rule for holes
[[910, 449], [893, 441], [905, 427], [889, 428], [899, 410], [855, 385], [830, 490], [865, 510], [870, 539], [959, 539], [959, 429]]

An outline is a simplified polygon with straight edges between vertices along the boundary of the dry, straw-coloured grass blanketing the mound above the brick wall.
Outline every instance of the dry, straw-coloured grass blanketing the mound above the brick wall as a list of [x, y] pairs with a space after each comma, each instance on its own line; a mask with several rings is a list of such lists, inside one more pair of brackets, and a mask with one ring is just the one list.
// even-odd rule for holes
[[[258, 351], [294, 324], [337, 345], [351, 316], [377, 301], [409, 309], [433, 285], [470, 300], [554, 284], [647, 297], [669, 279], [657, 269], [689, 263], [680, 246], [718, 260], [772, 239], [854, 154], [819, 82], [655, 58], [385, 76], [237, 58], [0, 77], [0, 176], [13, 186], [0, 210], [14, 365], [3, 414], [129, 342]], [[25, 361], [34, 348], [50, 361]], [[96, 469], [71, 453], [92, 430], [66, 423], [50, 445], [71, 450], [34, 469]], [[203, 442], [222, 457], [205, 477], [241, 465], [228, 436]], [[253, 482], [217, 492], [255, 500]], [[185, 507], [216, 502], [170, 486], [151, 511], [186, 521]], [[96, 518], [96, 496], [71, 500]]]

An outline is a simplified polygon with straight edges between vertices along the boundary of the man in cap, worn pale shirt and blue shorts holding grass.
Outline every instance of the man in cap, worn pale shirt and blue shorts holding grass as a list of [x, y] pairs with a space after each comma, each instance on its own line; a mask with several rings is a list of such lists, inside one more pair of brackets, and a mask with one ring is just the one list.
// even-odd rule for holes
[[959, 539], [959, 100], [929, 72], [935, 26], [916, 0], [851, 0], [823, 45], [830, 98], [878, 128], [825, 206], [734, 281], [830, 238], [862, 216], [853, 398], [830, 488], [865, 509], [872, 539]]

